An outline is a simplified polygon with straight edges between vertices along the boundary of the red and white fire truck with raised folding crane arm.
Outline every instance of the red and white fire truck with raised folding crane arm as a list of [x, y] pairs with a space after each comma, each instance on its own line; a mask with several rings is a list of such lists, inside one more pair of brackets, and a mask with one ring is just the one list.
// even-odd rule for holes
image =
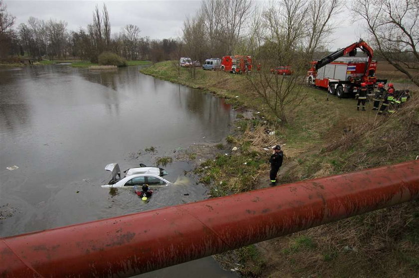
[[[367, 57], [354, 57], [357, 48], [365, 52]], [[342, 57], [346, 54], [350, 57]], [[371, 92], [376, 83], [387, 83], [387, 80], [376, 79], [377, 62], [372, 59], [373, 49], [361, 39], [318, 61], [311, 62], [312, 67], [307, 72], [307, 83], [309, 86], [327, 88], [329, 93], [338, 97], [356, 93], [361, 83], [366, 83]]]

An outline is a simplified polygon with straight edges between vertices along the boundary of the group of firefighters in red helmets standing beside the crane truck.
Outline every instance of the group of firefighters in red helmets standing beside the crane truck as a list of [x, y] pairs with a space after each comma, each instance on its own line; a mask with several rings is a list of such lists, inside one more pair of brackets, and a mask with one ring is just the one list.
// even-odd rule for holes
[[[388, 89], [384, 88], [383, 83], [379, 83], [377, 91], [374, 94], [374, 107], [373, 110], [378, 110], [378, 114], [394, 113], [396, 109], [408, 101], [410, 98], [409, 90], [395, 91], [393, 83], [389, 84]], [[368, 88], [367, 84], [361, 83], [361, 89], [357, 94], [358, 104], [357, 110], [359, 111], [360, 104], [362, 111], [365, 111], [365, 102], [367, 101]]]

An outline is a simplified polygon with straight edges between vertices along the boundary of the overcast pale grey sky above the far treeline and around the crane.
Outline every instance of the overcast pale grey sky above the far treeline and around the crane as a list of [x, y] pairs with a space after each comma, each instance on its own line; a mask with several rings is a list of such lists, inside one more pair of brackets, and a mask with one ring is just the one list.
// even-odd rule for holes
[[[262, 3], [262, 1], [256, 1]], [[141, 36], [152, 39], [176, 38], [182, 35], [182, 25], [186, 16], [193, 16], [201, 6], [200, 0], [165, 1], [41, 1], [41, 0], [4, 0], [7, 11], [16, 17], [15, 27], [26, 23], [29, 16], [48, 20], [64, 20], [68, 30], [85, 28], [92, 22], [96, 6], [103, 3], [109, 11], [111, 33], [118, 33], [127, 24], [137, 25]], [[347, 16], [347, 18], [346, 18]], [[353, 22], [349, 12], [343, 12], [341, 22], [331, 37], [330, 50], [345, 47], [359, 39], [363, 33], [359, 22]]]

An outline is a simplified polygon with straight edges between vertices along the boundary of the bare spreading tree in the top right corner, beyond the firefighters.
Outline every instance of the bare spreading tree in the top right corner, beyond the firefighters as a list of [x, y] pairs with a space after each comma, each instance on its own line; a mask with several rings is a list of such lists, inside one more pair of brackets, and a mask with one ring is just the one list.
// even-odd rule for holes
[[419, 1], [354, 0], [353, 12], [367, 23], [379, 55], [419, 87]]

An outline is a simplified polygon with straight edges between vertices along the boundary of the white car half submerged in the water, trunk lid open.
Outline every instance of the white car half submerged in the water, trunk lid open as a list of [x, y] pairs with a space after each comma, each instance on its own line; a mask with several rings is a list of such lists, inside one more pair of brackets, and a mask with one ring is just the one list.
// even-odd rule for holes
[[125, 187], [125, 186], [140, 186], [147, 184], [149, 186], [166, 186], [172, 183], [163, 179], [162, 177], [168, 173], [159, 167], [147, 167], [140, 164], [140, 167], [130, 168], [124, 171], [125, 177], [121, 179], [121, 171], [118, 163], [111, 163], [106, 165], [105, 170], [112, 173], [112, 180], [108, 185], [102, 185], [104, 188]]

